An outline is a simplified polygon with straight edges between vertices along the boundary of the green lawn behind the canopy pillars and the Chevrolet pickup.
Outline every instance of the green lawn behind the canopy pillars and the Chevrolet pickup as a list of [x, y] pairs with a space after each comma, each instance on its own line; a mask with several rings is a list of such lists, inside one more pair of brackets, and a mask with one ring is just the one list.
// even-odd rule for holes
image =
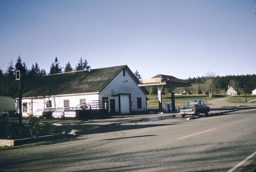
[[[147, 108], [158, 109], [158, 98], [157, 95], [147, 96]], [[216, 98], [224, 97], [224, 95], [216, 95], [215, 97], [208, 97], [205, 94], [191, 94], [191, 95], [178, 95], [175, 96], [175, 107], [185, 105], [188, 100], [203, 100], [204, 104], [209, 105], [208, 101]], [[171, 95], [163, 95], [163, 103], [171, 103]]]

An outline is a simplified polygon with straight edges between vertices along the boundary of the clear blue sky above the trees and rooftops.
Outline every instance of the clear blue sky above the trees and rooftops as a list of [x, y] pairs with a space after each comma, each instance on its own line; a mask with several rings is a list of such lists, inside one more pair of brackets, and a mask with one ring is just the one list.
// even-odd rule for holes
[[86, 58], [141, 76], [256, 73], [255, 0], [0, 1], [0, 68]]

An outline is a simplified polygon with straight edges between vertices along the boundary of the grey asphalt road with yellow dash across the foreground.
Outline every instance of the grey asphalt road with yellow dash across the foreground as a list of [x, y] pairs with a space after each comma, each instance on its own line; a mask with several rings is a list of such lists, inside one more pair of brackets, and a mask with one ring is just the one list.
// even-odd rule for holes
[[[0, 171], [227, 172], [256, 152], [255, 120], [254, 109], [109, 126], [68, 142], [0, 150]], [[256, 155], [234, 171], [255, 169]]]

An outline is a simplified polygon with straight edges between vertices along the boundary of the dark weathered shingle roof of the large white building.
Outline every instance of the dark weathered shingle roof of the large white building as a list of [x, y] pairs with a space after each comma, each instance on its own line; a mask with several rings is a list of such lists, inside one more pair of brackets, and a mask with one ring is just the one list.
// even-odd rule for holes
[[[103, 90], [127, 65], [44, 75], [29, 84], [23, 97], [45, 97], [63, 94], [94, 93]], [[131, 72], [133, 74], [133, 72]], [[139, 80], [132, 75], [136, 84]], [[144, 91], [144, 90], [143, 90]], [[18, 94], [13, 98], [18, 97]]]

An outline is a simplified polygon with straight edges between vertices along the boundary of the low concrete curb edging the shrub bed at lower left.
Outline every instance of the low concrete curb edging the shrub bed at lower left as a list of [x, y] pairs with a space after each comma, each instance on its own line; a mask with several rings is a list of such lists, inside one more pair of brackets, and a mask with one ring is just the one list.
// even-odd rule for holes
[[64, 133], [64, 134], [44, 135], [40, 137], [31, 137], [31, 138], [17, 139], [17, 140], [0, 139], [0, 147], [19, 146], [19, 145], [24, 145], [28, 143], [44, 142], [49, 140], [59, 140], [59, 139], [65, 139], [69, 137], [74, 137], [74, 135]]

